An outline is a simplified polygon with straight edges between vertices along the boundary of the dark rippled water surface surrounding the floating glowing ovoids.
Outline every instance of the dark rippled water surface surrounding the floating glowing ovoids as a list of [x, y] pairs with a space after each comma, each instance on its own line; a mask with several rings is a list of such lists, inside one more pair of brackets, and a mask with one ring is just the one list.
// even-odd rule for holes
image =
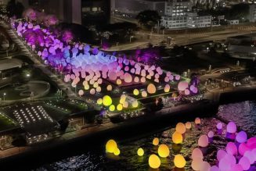
[[[157, 154], [157, 147], [152, 144], [154, 137], [160, 139], [160, 144], [167, 144], [171, 152], [167, 159], [160, 159], [161, 166], [158, 170], [192, 170], [190, 167], [192, 150], [197, 147], [197, 140], [200, 135], [207, 134], [210, 130], [215, 132], [215, 137], [206, 149], [207, 155], [205, 155], [204, 160], [213, 166], [216, 162], [217, 150], [225, 148], [228, 142], [225, 139], [225, 129], [220, 135], [216, 133], [216, 124], [221, 122], [216, 118], [234, 121], [240, 129], [245, 130], [251, 136], [256, 136], [256, 101], [239, 102], [219, 106], [217, 116], [201, 119], [200, 127], [193, 124], [192, 130], [186, 132], [185, 141], [182, 145], [172, 143], [171, 134], [175, 132], [175, 125], [171, 125], [168, 130], [151, 134], [148, 137], [135, 141], [124, 141], [123, 143], [117, 142], [121, 151], [119, 156], [106, 154], [105, 142], [103, 142], [100, 147], [89, 151], [81, 151], [80, 155], [48, 163], [34, 170], [153, 170], [148, 166], [148, 158], [151, 154]], [[225, 124], [223, 127], [225, 128]], [[138, 148], [144, 149], [144, 156], [139, 157], [137, 155]], [[187, 161], [184, 169], [175, 169], [173, 159], [174, 155], [177, 154], [183, 155]], [[251, 167], [250, 170], [256, 170], [256, 166]]]

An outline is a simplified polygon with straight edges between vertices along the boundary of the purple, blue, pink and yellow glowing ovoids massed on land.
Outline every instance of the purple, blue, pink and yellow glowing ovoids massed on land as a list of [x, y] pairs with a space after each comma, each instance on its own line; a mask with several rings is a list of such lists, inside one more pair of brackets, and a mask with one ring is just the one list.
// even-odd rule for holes
[[[29, 13], [33, 14], [33, 12]], [[103, 94], [104, 97], [98, 99], [97, 103], [109, 107], [110, 111], [121, 111], [128, 108], [128, 105], [133, 108], [139, 106], [139, 102], [136, 100], [130, 104], [127, 101], [119, 104], [110, 102], [110, 94], [106, 93], [113, 91], [116, 86], [125, 84], [146, 84], [144, 90], [135, 88], [132, 92], [141, 98], [156, 94], [158, 84], [164, 84], [164, 90], [161, 91], [168, 93], [171, 90], [170, 81], [178, 82], [178, 91], [181, 91], [182, 94], [197, 93], [197, 87], [181, 80], [179, 75], [164, 72], [159, 66], [143, 65], [133, 60], [106, 55], [89, 45], [63, 42], [49, 29], [45, 29], [37, 23], [13, 21], [12, 24], [17, 34], [27, 41], [27, 45], [31, 46], [46, 65], [65, 73], [68, 71], [64, 77], [65, 82], [70, 83], [72, 87], [82, 84], [83, 89], [78, 90], [79, 96], [102, 92], [109, 95], [108, 99], [104, 100], [103, 98], [106, 96]]]

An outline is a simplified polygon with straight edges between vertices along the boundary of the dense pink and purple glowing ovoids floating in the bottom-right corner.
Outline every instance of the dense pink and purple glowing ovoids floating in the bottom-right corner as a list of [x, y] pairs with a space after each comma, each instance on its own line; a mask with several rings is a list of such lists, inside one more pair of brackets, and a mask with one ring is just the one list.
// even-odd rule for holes
[[[223, 129], [223, 124], [217, 124], [217, 130]], [[208, 145], [208, 138], [214, 137], [214, 132], [209, 131], [208, 137], [202, 135], [198, 140], [200, 148], [194, 148], [191, 158], [193, 170], [198, 171], [243, 171], [249, 170], [251, 165], [256, 162], [256, 137], [247, 139], [247, 134], [244, 131], [236, 133], [236, 123], [229, 122], [226, 126], [227, 137], [229, 143], [226, 144], [225, 149], [217, 151], [217, 165], [211, 166], [208, 162], [204, 162], [204, 155], [200, 148], [205, 148]], [[233, 139], [229, 137], [229, 134], [233, 134]], [[230, 141], [231, 140], [231, 141]], [[250, 169], [251, 170], [251, 169]]]

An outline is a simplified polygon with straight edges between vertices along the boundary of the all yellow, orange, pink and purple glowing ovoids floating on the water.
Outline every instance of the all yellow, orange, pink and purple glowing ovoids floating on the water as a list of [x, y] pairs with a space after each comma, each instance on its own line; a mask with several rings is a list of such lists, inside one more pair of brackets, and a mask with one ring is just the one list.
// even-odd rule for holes
[[[200, 118], [195, 119], [195, 126], [200, 125]], [[218, 128], [222, 127], [223, 124], [218, 123]], [[220, 126], [222, 125], [222, 126]], [[177, 123], [175, 127], [175, 134], [182, 135], [186, 134], [186, 130], [192, 128], [192, 123], [187, 122], [186, 124]], [[218, 130], [217, 128], [217, 130]], [[229, 129], [228, 129], [229, 128]], [[230, 122], [227, 125], [227, 130], [235, 134], [233, 141], [226, 144], [225, 149], [218, 150], [216, 166], [211, 166], [208, 162], [204, 161], [204, 148], [207, 148], [210, 143], [209, 140], [215, 136], [215, 132], [209, 131], [208, 136], [202, 135], [198, 140], [198, 148], [194, 148], [191, 154], [191, 167], [196, 171], [243, 171], [249, 170], [251, 165], [256, 162], [256, 137], [247, 139], [247, 134], [244, 131], [239, 133], [234, 132], [236, 130], [236, 124]], [[228, 132], [229, 134], [229, 132]], [[172, 137], [173, 138], [173, 137]], [[175, 143], [175, 141], [174, 141]], [[171, 155], [170, 148], [167, 144], [160, 144], [159, 138], [153, 138], [152, 144], [156, 146], [157, 151], [155, 154], [149, 155], [148, 163], [152, 169], [158, 169], [161, 165], [161, 159], [168, 158]], [[106, 144], [106, 151], [114, 153], [117, 151], [117, 143], [115, 141], [108, 141]], [[204, 151], [204, 153], [203, 153]], [[119, 151], [120, 153], [120, 151]], [[118, 154], [119, 154], [118, 153]], [[143, 148], [137, 149], [137, 155], [142, 157], [145, 155]], [[174, 165], [176, 168], [184, 168], [186, 166], [186, 159], [182, 155], [175, 155]], [[250, 169], [251, 170], [251, 169]]]

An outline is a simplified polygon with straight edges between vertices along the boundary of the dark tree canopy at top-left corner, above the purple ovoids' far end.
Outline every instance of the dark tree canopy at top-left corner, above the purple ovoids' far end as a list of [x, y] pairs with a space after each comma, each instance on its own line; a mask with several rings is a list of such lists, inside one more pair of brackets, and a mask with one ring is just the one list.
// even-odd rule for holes
[[10, 0], [6, 5], [6, 10], [9, 17], [16, 16], [19, 19], [22, 17], [24, 6], [21, 2]]

